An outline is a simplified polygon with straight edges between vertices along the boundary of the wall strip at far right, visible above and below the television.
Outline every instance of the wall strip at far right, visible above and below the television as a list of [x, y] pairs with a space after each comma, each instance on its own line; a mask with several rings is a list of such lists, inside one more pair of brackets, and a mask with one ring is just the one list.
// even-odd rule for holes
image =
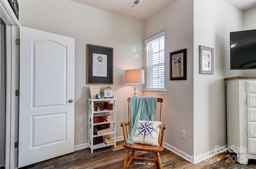
[[[256, 29], [256, 7], [244, 11], [244, 30]], [[244, 70], [244, 76], [256, 76], [256, 70]]]

